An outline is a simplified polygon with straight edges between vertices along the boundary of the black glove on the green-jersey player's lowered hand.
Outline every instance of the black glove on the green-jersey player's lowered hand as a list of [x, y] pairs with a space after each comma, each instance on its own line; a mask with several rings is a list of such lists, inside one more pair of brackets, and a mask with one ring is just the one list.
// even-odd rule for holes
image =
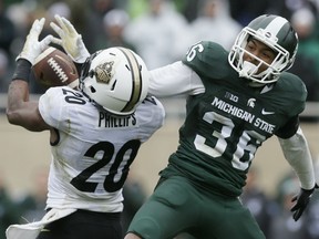
[[318, 188], [317, 184], [312, 189], [309, 190], [301, 188], [300, 193], [291, 199], [291, 201], [296, 201], [296, 204], [290, 209], [290, 211], [294, 212], [292, 218], [295, 221], [301, 217], [302, 212], [307, 208], [315, 188]]

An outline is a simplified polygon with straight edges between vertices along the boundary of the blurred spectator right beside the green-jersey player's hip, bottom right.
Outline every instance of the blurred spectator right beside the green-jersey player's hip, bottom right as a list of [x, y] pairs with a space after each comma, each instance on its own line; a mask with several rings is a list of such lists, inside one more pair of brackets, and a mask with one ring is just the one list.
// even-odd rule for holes
[[256, 218], [266, 238], [270, 238], [270, 221], [278, 211], [278, 205], [258, 187], [257, 168], [250, 167], [240, 199]]

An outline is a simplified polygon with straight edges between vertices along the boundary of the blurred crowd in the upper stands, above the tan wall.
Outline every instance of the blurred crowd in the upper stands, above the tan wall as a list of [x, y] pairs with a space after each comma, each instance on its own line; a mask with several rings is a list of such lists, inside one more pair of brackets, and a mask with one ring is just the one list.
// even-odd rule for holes
[[[158, 67], [179, 60], [188, 46], [210, 40], [229, 49], [243, 27], [264, 13], [291, 21], [300, 43], [290, 70], [306, 82], [309, 101], [319, 100], [319, 0], [0, 0], [0, 92], [37, 18], [45, 17], [42, 35], [54, 14], [71, 20], [92, 53], [122, 45]], [[33, 93], [42, 93], [32, 85]]]

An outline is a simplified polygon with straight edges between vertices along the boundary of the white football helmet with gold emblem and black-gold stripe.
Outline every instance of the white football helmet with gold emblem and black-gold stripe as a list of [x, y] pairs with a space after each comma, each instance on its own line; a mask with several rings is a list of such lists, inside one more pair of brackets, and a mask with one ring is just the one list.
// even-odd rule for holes
[[109, 48], [83, 64], [80, 89], [115, 115], [130, 115], [146, 97], [150, 73], [144, 61], [125, 48]]

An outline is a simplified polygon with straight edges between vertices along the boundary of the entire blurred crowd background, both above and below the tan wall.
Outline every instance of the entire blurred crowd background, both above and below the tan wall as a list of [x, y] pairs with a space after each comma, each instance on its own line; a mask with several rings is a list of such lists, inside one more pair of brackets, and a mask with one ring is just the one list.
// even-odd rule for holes
[[[299, 51], [289, 70], [308, 89], [308, 102], [319, 101], [319, 0], [0, 0], [0, 93], [6, 94], [34, 19], [45, 17], [42, 38], [53, 34], [54, 14], [68, 18], [82, 34], [91, 53], [109, 46], [127, 46], [138, 53], [148, 69], [179, 60], [188, 46], [210, 40], [230, 49], [236, 35], [254, 18], [275, 13], [291, 21], [299, 35]], [[31, 93], [42, 86], [31, 83]], [[318, 114], [317, 114], [318, 116]], [[309, 118], [308, 118], [309, 119]], [[318, 123], [311, 117], [310, 123]], [[177, 128], [176, 128], [177, 131]], [[40, 219], [44, 215], [48, 168], [33, 173], [34, 191], [12, 197], [0, 174], [0, 239], [10, 224]], [[290, 199], [299, 191], [291, 172], [278, 181], [276, 195], [258, 186], [258, 168], [251, 168], [243, 202], [256, 216], [269, 239], [319, 239], [319, 194], [306, 215], [294, 221]], [[124, 188], [124, 229], [147, 197], [143, 185], [130, 178]]]

